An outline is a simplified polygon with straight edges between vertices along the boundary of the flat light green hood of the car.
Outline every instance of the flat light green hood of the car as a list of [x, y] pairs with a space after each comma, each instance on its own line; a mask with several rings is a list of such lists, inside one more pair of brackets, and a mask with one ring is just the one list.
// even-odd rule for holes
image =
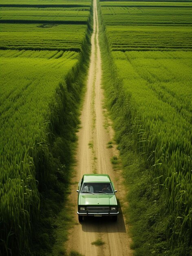
[[117, 200], [110, 194], [79, 194], [79, 205], [117, 205]]

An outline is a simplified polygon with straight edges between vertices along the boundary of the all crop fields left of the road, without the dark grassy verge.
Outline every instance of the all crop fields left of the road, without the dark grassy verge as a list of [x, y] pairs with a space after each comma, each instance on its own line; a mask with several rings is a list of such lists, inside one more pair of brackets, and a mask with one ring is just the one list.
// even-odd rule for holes
[[[87, 47], [90, 5], [90, 0], [0, 3], [0, 254], [31, 254], [39, 192], [59, 186], [61, 172], [67, 176], [53, 168], [51, 145], [60, 143], [55, 131], [62, 122], [75, 125], [66, 109], [75, 104], [77, 88], [68, 87]], [[62, 156], [66, 161], [69, 151]]]

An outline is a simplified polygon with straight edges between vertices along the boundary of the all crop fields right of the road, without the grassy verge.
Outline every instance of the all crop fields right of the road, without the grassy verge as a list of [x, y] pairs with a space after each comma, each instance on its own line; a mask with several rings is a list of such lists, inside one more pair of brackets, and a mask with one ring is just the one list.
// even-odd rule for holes
[[[187, 252], [192, 234], [192, 9], [184, 8], [189, 6], [101, 2], [106, 41], [122, 84], [122, 89], [112, 89], [119, 90], [114, 102], [119, 104], [118, 118], [124, 116], [122, 134], [131, 134], [144, 157], [148, 179], [154, 182], [146, 193], [153, 194], [150, 185], [158, 191], [153, 198], [160, 212], [155, 222], [164, 225], [162, 243], [168, 242], [169, 252], [177, 248], [177, 255]], [[128, 147], [126, 141], [121, 143]], [[153, 239], [156, 248], [160, 246], [153, 253], [166, 254], [161, 238]]]

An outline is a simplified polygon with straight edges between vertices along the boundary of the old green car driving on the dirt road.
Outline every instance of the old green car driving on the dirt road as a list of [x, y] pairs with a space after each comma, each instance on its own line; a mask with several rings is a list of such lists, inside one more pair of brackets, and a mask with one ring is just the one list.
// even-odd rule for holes
[[79, 181], [78, 211], [79, 222], [84, 216], [110, 216], [117, 221], [119, 214], [113, 182], [106, 174], [84, 174]]

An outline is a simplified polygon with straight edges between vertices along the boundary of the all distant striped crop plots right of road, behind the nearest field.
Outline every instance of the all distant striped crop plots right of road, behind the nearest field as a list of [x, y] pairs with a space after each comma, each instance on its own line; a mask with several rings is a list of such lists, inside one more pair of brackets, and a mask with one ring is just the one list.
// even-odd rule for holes
[[[191, 50], [192, 9], [174, 2], [176, 7], [166, 7], [166, 2], [150, 2], [159, 7], [145, 7], [146, 2], [136, 2], [141, 7], [126, 7], [133, 2], [101, 2], [102, 16], [110, 47], [121, 50]], [[121, 3], [124, 7], [120, 7]], [[105, 6], [107, 4], [107, 6]], [[135, 2], [134, 2], [135, 4]]]

